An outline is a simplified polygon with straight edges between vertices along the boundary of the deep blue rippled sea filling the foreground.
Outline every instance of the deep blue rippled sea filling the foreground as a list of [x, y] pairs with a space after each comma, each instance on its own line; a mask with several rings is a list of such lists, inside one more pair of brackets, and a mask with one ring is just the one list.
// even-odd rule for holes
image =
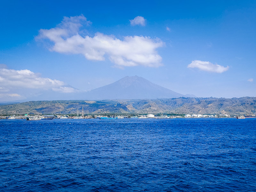
[[0, 191], [256, 191], [255, 123], [0, 120]]

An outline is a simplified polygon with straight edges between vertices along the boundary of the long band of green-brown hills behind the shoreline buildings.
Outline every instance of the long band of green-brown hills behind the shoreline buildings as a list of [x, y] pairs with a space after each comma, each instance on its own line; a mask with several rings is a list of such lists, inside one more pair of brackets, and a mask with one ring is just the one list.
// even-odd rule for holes
[[0, 105], [0, 115], [42, 113], [42, 114], [84, 114], [99, 113], [178, 113], [230, 115], [256, 112], [256, 97], [242, 98], [172, 98], [153, 100], [54, 100], [28, 101]]

